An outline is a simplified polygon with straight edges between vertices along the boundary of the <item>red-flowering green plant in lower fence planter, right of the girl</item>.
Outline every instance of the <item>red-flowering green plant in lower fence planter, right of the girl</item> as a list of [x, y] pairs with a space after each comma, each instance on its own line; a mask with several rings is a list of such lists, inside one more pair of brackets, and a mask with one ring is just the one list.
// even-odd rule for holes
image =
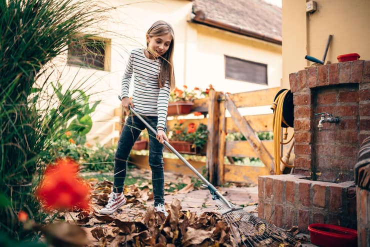
[[184, 127], [183, 123], [184, 121], [180, 120], [168, 131], [169, 140], [189, 141], [193, 143], [194, 146], [202, 148], [208, 141], [207, 125], [199, 123], [196, 127], [195, 123], [190, 122], [187, 127]]

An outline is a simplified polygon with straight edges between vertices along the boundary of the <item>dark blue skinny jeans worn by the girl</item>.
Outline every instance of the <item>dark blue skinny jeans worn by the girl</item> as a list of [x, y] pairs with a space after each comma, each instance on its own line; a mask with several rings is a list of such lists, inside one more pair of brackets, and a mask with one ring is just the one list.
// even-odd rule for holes
[[[142, 116], [150, 126], [156, 129], [156, 116]], [[127, 158], [131, 148], [139, 136], [145, 124], [135, 115], [129, 115], [123, 125], [119, 136], [117, 150], [114, 155], [114, 192], [120, 193], [123, 190], [126, 177]], [[163, 170], [163, 144], [156, 138], [155, 134], [148, 129], [149, 133], [149, 165], [151, 168], [151, 182], [153, 184], [154, 206], [164, 203], [164, 170]]]

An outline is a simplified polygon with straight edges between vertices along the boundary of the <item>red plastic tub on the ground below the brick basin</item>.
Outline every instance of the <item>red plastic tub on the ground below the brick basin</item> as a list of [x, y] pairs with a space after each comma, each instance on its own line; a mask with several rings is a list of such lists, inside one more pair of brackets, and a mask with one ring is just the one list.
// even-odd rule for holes
[[308, 225], [311, 243], [320, 247], [355, 247], [357, 231], [338, 225], [313, 223]]

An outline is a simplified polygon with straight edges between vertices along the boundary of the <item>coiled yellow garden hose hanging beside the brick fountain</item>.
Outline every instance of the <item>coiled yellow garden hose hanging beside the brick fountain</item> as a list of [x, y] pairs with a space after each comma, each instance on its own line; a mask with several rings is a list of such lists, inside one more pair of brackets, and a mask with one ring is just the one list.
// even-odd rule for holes
[[[274, 156], [274, 161], [275, 161], [275, 174], [277, 175], [281, 174], [282, 170], [284, 169], [284, 166], [293, 167], [292, 165], [287, 164], [287, 162], [289, 160], [290, 152], [291, 152], [294, 142], [291, 143], [288, 153], [284, 156], [284, 158], [281, 158], [281, 155], [280, 155], [281, 144], [289, 143], [293, 139], [293, 136], [294, 136], [294, 133], [293, 133], [290, 139], [286, 142], [283, 142], [282, 140], [283, 138], [281, 136], [281, 122], [284, 123], [286, 126], [289, 126], [289, 124], [286, 123], [284, 117], [282, 116], [282, 104], [283, 104], [285, 95], [288, 91], [289, 91], [288, 89], [285, 89], [280, 94], [278, 94], [275, 97], [273, 104], [271, 105], [271, 109], [273, 110], [273, 120], [272, 120], [273, 156]], [[284, 137], [285, 137], [284, 139], [286, 139], [286, 135], [287, 135], [287, 132], [284, 133]]]

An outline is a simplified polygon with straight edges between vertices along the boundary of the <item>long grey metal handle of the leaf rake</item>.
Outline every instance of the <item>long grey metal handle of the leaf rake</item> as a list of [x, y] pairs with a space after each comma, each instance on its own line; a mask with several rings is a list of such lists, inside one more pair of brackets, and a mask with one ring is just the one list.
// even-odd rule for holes
[[[150, 129], [150, 131], [152, 131], [155, 135], [157, 134], [155, 129], [150, 126], [149, 123], [147, 123], [132, 107], [129, 107], [129, 109], [132, 111], [133, 114], [135, 114], [145, 125], [148, 129]], [[208, 187], [210, 193], [213, 195], [213, 198], [212, 199], [221, 199], [224, 203], [226, 203], [226, 205], [229, 207], [229, 208], [233, 208], [233, 206], [231, 205], [230, 202], [228, 202], [228, 200], [226, 200], [225, 197], [223, 197], [218, 191], [217, 189], [207, 180], [205, 179], [204, 176], [202, 176], [189, 162], [187, 162], [187, 160], [182, 157], [182, 155], [176, 150], [174, 149], [169, 143], [168, 141], [164, 140], [164, 145], [166, 147], [168, 147], [169, 150], [171, 150], [174, 154], [176, 154], [176, 156], [181, 159], [181, 161], [186, 164], [187, 167], [190, 168], [190, 170], [192, 170], [195, 175], [197, 175], [200, 180], [202, 180], [205, 185]]]

